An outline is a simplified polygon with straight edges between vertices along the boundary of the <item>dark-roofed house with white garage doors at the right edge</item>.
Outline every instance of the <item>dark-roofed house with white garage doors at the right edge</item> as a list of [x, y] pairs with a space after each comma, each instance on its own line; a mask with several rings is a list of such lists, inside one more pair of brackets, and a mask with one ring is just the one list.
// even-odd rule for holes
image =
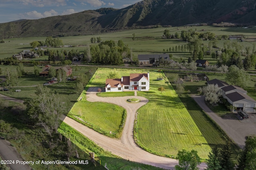
[[234, 111], [246, 111], [248, 113], [255, 113], [256, 101], [247, 95], [246, 90], [227, 84], [218, 79], [213, 79], [207, 82], [208, 84], [217, 84], [222, 89], [222, 97], [236, 107]]

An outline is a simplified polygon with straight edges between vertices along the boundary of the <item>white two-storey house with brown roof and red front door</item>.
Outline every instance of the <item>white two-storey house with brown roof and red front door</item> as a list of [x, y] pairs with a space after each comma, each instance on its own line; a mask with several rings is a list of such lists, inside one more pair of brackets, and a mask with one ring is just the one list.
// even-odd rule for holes
[[123, 92], [126, 90], [149, 90], [149, 73], [130, 74], [122, 78], [106, 79], [106, 92]]

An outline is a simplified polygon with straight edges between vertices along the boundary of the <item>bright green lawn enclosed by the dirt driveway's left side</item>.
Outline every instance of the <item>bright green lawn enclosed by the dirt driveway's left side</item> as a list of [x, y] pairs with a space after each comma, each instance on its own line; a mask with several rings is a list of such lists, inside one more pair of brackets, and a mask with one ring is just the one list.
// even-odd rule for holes
[[[114, 104], [88, 102], [85, 92], [79, 98], [81, 97], [82, 100], [74, 104], [68, 116], [104, 135], [116, 138], [121, 137], [122, 123], [126, 118], [126, 110]], [[111, 134], [110, 131], [112, 132]]]

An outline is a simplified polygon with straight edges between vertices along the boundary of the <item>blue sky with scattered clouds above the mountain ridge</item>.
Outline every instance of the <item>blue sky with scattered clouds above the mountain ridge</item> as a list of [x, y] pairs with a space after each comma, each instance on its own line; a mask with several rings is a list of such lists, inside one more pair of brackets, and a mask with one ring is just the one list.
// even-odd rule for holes
[[103, 7], [125, 8], [142, 0], [0, 0], [0, 23], [68, 15]]

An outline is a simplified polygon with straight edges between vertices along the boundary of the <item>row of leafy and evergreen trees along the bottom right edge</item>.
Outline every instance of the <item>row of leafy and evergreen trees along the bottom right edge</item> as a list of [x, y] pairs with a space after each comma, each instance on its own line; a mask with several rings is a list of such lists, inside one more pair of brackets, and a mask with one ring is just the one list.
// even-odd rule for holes
[[[175, 166], [176, 170], [199, 170], [197, 167], [200, 157], [196, 150], [179, 150], [176, 156], [179, 164]], [[223, 149], [214, 147], [208, 154], [206, 160], [206, 170], [255, 170], [256, 169], [256, 137], [247, 137], [245, 147], [240, 154], [238, 164], [234, 162], [234, 154], [230, 141], [226, 143]]]

